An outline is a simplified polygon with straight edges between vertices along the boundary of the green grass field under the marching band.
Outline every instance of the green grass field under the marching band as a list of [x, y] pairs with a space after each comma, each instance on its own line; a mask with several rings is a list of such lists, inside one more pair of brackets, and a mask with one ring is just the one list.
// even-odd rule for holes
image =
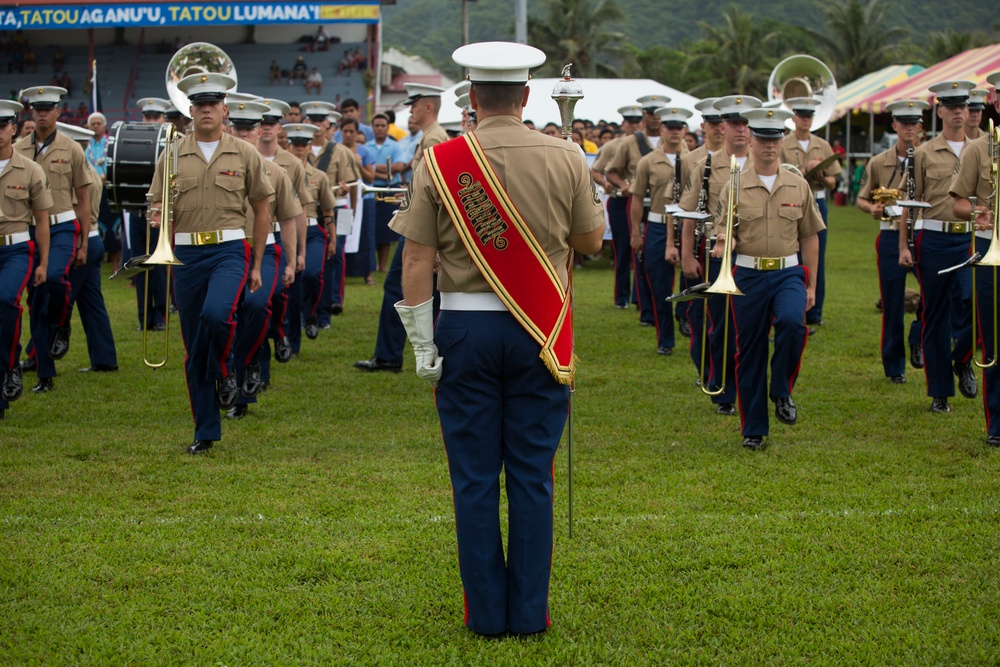
[[122, 370], [76, 372], [77, 322], [56, 390], [0, 422], [0, 664], [1000, 664], [982, 404], [932, 415], [922, 374], [883, 377], [873, 223], [830, 227], [799, 424], [772, 416], [759, 453], [613, 307], [607, 261], [577, 272], [574, 537], [563, 449], [532, 641], [462, 626], [431, 388], [409, 351], [400, 375], [351, 367], [381, 289], [351, 281], [334, 328], [191, 457], [177, 320], [147, 370], [133, 292], [105, 283]]

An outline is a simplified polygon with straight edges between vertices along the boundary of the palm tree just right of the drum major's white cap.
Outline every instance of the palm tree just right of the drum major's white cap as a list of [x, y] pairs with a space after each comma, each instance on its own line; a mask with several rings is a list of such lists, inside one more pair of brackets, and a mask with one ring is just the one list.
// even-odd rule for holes
[[546, 18], [528, 19], [528, 42], [545, 52], [540, 75], [558, 74], [573, 63], [573, 73], [583, 77], [615, 78], [618, 70], [609, 61], [624, 60], [625, 35], [607, 26], [625, 19], [617, 0], [544, 0]]

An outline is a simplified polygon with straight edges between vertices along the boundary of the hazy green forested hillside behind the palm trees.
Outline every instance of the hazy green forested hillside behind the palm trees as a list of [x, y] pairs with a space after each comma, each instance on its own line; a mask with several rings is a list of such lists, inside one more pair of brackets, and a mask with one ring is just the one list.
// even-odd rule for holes
[[[732, 0], [619, 0], [628, 14], [621, 25], [609, 28], [628, 36], [640, 50], [654, 46], [679, 48], [684, 42], [702, 37], [699, 21], [718, 20]], [[738, 3], [741, 11], [758, 19], [783, 21], [822, 30], [821, 5], [795, 0], [747, 0]], [[398, 0], [384, 8], [384, 39], [407, 53], [421, 55], [445, 71], [450, 71], [451, 52], [461, 45], [460, 0]], [[898, 1], [898, 24], [910, 31], [912, 60], [919, 60], [921, 44], [928, 32], [953, 29], [957, 32], [989, 31], [1000, 24], [1000, 9], [993, 3], [952, 0], [948, 3]], [[469, 36], [472, 41], [511, 39], [514, 30], [514, 0], [469, 2]], [[529, 16], [541, 13], [538, 0], [529, 0]]]

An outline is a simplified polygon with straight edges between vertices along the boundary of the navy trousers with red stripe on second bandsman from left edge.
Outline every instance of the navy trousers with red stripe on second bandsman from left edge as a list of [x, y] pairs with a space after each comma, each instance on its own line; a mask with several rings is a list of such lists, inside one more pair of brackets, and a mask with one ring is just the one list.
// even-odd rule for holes
[[[34, 227], [32, 227], [32, 231]], [[63, 222], [50, 228], [49, 265], [45, 284], [39, 288], [28, 287], [29, 323], [31, 343], [38, 364], [38, 379], [56, 376], [56, 362], [49, 356], [54, 329], [69, 324], [70, 284], [69, 270], [73, 267], [80, 223]], [[38, 266], [38, 248], [35, 248], [35, 266]]]

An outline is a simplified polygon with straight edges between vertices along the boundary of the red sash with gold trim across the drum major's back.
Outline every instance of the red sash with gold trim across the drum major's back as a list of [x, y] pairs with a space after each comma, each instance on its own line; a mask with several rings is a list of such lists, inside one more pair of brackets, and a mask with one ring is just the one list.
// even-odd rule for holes
[[472, 260], [542, 346], [552, 376], [572, 384], [572, 299], [490, 166], [475, 133], [424, 152], [441, 201]]

